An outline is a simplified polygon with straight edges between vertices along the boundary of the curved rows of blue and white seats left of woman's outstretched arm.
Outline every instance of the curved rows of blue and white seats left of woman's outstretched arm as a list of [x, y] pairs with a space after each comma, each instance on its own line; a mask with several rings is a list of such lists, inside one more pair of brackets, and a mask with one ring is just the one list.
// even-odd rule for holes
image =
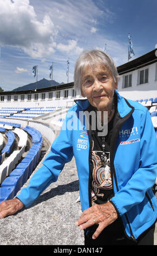
[[[17, 125], [17, 127], [15, 123], [11, 123], [10, 125], [10, 123], [7, 124], [6, 122], [1, 122], [0, 125], [2, 125], [2, 128], [4, 128], [3, 125], [6, 125], [6, 129], [10, 129], [6, 132], [8, 142], [2, 150], [3, 153], [1, 152], [2, 154], [0, 155], [1, 202], [2, 200], [14, 198], [16, 193], [21, 189], [25, 182], [27, 182], [40, 158], [43, 138], [38, 130], [30, 126], [26, 126], [25, 129], [19, 129], [21, 125]], [[11, 131], [11, 128], [13, 127], [15, 127], [15, 130]], [[14, 150], [12, 154], [10, 154], [11, 147], [15, 141], [15, 134], [19, 138], [18, 147], [20, 149]], [[22, 159], [27, 144], [28, 134], [31, 136], [33, 144], [31, 145], [28, 153]], [[2, 142], [1, 139], [3, 139], [3, 136], [0, 133], [0, 143]], [[10, 148], [8, 149], [8, 147]], [[8, 157], [5, 159], [6, 153], [8, 153]]]

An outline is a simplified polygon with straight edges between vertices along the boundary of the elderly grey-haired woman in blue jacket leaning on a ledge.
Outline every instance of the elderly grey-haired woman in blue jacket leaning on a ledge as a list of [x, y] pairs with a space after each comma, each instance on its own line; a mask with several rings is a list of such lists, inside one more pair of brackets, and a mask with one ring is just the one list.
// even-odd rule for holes
[[32, 204], [75, 156], [83, 211], [75, 224], [84, 229], [85, 245], [153, 245], [155, 131], [147, 108], [117, 93], [118, 80], [106, 53], [81, 54], [74, 83], [87, 99], [69, 109], [43, 166], [17, 198], [1, 203], [1, 217]]

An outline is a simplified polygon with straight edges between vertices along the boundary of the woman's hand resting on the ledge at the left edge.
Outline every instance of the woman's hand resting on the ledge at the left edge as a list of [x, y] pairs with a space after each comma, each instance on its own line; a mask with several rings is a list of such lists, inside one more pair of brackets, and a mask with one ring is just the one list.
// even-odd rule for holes
[[0, 204], [0, 218], [15, 214], [17, 211], [21, 210], [23, 206], [23, 203], [17, 198], [2, 201]]

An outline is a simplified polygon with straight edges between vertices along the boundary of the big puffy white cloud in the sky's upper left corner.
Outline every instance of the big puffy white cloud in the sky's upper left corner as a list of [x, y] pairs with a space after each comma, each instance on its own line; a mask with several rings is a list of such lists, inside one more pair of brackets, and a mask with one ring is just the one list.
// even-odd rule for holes
[[0, 0], [0, 44], [20, 47], [33, 58], [49, 56], [55, 51], [58, 33], [49, 15], [37, 20], [29, 0]]

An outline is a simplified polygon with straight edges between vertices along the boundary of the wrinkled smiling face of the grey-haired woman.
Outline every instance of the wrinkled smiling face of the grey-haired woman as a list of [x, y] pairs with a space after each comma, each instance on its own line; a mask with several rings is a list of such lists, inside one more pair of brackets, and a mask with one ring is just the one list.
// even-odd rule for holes
[[112, 106], [116, 88], [117, 82], [114, 82], [108, 68], [102, 65], [87, 66], [82, 76], [81, 93], [98, 111], [107, 111]]

